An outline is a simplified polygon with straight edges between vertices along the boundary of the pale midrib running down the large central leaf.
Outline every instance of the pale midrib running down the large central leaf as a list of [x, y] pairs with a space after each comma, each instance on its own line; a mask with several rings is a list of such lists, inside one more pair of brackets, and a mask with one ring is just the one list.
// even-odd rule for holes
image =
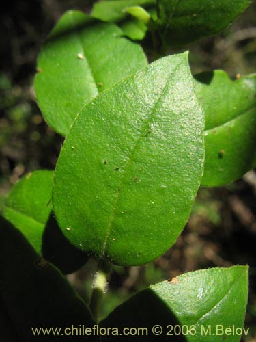
[[[148, 124], [152, 118], [152, 114], [154, 113], [154, 109], [156, 109], [156, 106], [158, 105], [158, 103], [160, 102], [160, 99], [162, 98], [163, 94], [165, 93], [166, 89], [167, 89], [167, 86], [169, 85], [169, 80], [171, 79], [171, 75], [173, 75], [173, 73], [175, 73], [175, 71], [177, 70], [177, 68], [180, 67], [180, 64], [177, 64], [177, 66], [175, 66], [175, 68], [173, 68], [173, 70], [171, 71], [171, 74], [169, 75], [169, 78], [167, 79], [166, 83], [165, 83], [165, 86], [162, 88], [162, 91], [160, 93], [160, 96], [158, 97], [156, 103], [154, 103], [154, 106], [153, 108], [150, 110], [150, 114], [147, 118], [147, 120], [145, 120], [144, 122], [144, 129], [143, 131], [141, 132], [141, 134], [139, 135], [138, 137], [138, 140], [136, 142], [136, 144], [134, 145], [134, 148], [132, 148], [131, 150], [131, 153], [130, 153], [130, 156], [128, 157], [128, 161], [127, 161], [127, 166], [126, 166], [126, 169], [124, 171], [124, 173], [122, 174], [122, 178], [121, 178], [121, 181], [120, 181], [120, 184], [118, 186], [118, 188], [121, 187], [121, 184], [123, 183], [124, 181], [124, 178], [128, 172], [128, 169], [130, 168], [130, 165], [132, 163], [132, 158], [134, 157], [134, 154], [139, 146], [139, 143], [141, 142], [143, 136], [145, 135], [145, 131], [147, 131], [147, 127], [148, 127]], [[106, 231], [106, 235], [105, 235], [105, 239], [104, 239], [104, 242], [103, 242], [103, 247], [102, 247], [102, 257], [105, 256], [105, 252], [106, 252], [106, 245], [107, 245], [107, 242], [109, 240], [109, 237], [111, 235], [111, 229], [112, 229], [112, 226], [113, 226], [113, 221], [115, 219], [115, 212], [117, 210], [117, 203], [119, 201], [119, 198], [120, 198], [120, 194], [121, 192], [120, 191], [117, 191], [115, 192], [115, 202], [113, 204], [113, 210], [111, 212], [111, 215], [110, 215], [110, 218], [109, 218], [109, 226], [107, 228], [107, 231]]]

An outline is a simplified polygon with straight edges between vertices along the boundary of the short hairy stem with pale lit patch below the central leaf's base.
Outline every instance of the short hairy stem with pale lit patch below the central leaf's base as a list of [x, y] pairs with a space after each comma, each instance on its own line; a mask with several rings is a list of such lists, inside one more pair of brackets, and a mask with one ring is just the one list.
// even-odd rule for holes
[[96, 273], [94, 279], [91, 301], [89, 304], [92, 316], [96, 322], [98, 322], [102, 298], [106, 289], [107, 281], [109, 280], [110, 272], [111, 265], [109, 263], [107, 263], [106, 261], [99, 263], [98, 272]]

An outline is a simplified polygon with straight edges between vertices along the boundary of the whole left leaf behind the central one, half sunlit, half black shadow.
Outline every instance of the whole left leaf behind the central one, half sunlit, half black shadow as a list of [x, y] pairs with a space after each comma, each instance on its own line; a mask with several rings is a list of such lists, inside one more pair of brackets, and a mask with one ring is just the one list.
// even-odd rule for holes
[[53, 171], [31, 172], [16, 183], [5, 200], [3, 216], [25, 235], [35, 250], [64, 274], [81, 268], [89, 257], [63, 236], [50, 216]]

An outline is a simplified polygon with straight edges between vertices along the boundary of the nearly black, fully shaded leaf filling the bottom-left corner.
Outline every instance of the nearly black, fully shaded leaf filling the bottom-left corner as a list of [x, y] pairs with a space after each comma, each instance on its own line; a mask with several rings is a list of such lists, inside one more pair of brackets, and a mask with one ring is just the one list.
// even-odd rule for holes
[[[35, 337], [31, 328], [94, 325], [89, 309], [66, 278], [1, 217], [0, 295], [24, 341], [47, 341], [42, 333]], [[52, 336], [49, 334], [49, 341], [70, 341], [70, 336]], [[89, 341], [98, 341], [98, 337], [91, 336]]]

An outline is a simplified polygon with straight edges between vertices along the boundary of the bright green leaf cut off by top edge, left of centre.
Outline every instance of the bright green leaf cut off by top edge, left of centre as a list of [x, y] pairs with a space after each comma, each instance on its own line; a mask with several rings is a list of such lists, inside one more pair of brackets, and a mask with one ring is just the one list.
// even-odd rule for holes
[[118, 0], [99, 1], [94, 3], [91, 16], [102, 21], [122, 21], [126, 17], [126, 8], [131, 6], [143, 6], [147, 8], [155, 5], [156, 0]]

